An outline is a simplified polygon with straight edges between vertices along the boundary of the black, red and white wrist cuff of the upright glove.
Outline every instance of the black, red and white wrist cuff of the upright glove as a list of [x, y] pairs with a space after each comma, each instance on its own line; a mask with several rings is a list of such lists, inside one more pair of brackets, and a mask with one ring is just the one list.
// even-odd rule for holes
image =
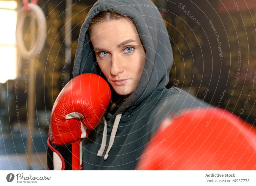
[[81, 170], [82, 139], [72, 144], [55, 145], [47, 140], [48, 170]]

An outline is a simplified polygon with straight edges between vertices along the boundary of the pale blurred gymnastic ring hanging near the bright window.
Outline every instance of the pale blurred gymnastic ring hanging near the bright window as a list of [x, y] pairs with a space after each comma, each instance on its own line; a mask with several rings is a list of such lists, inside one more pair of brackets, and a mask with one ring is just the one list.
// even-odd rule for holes
[[32, 15], [35, 17], [37, 22], [38, 31], [36, 33], [37, 39], [33, 42], [31, 50], [28, 50], [24, 45], [23, 39], [23, 24], [25, 22], [25, 16], [27, 12], [24, 10], [24, 7], [21, 7], [17, 11], [17, 25], [16, 25], [16, 41], [17, 47], [20, 48], [21, 56], [24, 58], [35, 57], [37, 56], [41, 49], [44, 47], [44, 35], [46, 33], [46, 19], [44, 12], [37, 4], [28, 4], [29, 10]]

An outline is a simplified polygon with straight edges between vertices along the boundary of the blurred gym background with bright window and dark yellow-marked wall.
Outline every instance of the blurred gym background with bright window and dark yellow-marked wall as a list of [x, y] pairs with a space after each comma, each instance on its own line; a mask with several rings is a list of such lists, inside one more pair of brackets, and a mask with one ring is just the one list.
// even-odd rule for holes
[[[0, 0], [0, 170], [47, 169], [52, 106], [72, 76], [79, 31], [95, 2], [34, 1], [45, 16], [40, 23], [23, 8], [28, 1]], [[176, 82], [256, 125], [255, 0], [153, 2], [173, 50], [168, 88]], [[18, 32], [23, 48], [40, 45], [38, 55], [24, 57]]]

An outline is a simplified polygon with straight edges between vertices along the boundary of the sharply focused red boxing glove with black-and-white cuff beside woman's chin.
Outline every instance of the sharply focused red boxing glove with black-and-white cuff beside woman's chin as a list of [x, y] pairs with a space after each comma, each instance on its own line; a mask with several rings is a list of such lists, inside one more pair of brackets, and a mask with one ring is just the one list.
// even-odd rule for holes
[[61, 90], [47, 141], [49, 170], [81, 170], [82, 139], [100, 123], [110, 97], [108, 83], [96, 74], [76, 76]]

